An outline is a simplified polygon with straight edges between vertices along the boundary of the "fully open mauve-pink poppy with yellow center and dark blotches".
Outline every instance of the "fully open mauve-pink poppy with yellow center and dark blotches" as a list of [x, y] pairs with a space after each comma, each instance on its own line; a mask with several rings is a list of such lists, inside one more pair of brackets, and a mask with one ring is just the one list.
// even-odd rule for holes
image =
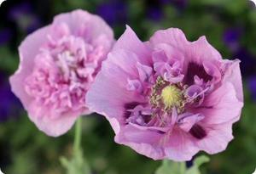
[[125, 144], [154, 160], [215, 154], [233, 138], [243, 106], [239, 60], [224, 60], [205, 36], [179, 29], [141, 42], [129, 26], [86, 95]]

